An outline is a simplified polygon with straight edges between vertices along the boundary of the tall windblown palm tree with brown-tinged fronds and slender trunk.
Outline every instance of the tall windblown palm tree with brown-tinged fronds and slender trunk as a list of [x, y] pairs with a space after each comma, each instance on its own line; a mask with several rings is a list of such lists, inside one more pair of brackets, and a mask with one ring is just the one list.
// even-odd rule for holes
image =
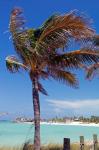
[[87, 38], [94, 35], [87, 19], [75, 11], [64, 15], [55, 14], [38, 29], [25, 29], [24, 22], [22, 10], [13, 9], [10, 32], [19, 58], [8, 56], [6, 65], [12, 73], [21, 68], [29, 73], [34, 106], [34, 149], [40, 150], [39, 92], [47, 95], [40, 79], [53, 78], [76, 88], [78, 80], [70, 70], [98, 62], [99, 55], [88, 48], [65, 51], [72, 39], [83, 44]]

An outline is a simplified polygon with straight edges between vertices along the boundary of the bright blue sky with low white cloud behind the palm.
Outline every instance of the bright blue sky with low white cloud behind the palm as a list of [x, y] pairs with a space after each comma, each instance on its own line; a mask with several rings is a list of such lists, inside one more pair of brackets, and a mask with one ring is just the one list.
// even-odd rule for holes
[[[55, 12], [62, 14], [77, 9], [93, 19], [93, 27], [99, 33], [99, 5], [97, 0], [0, 0], [0, 112], [8, 112], [3, 118], [18, 115], [32, 116], [32, 89], [26, 72], [11, 74], [7, 71], [5, 57], [15, 54], [8, 30], [11, 9], [24, 9], [27, 27], [39, 27]], [[83, 71], [76, 71], [79, 89], [53, 80], [42, 81], [49, 96], [40, 95], [43, 118], [68, 115], [99, 115], [99, 79], [91, 82], [85, 79]]]

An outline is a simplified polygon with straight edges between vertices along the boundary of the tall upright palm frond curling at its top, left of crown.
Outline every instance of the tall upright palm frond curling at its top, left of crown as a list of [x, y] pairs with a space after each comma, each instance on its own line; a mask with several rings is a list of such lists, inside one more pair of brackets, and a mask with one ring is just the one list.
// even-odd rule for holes
[[[24, 27], [25, 20], [22, 17], [22, 9], [15, 8], [11, 12], [10, 32], [12, 33], [13, 44], [21, 61], [33, 67], [33, 61], [37, 62], [37, 55], [33, 51], [35, 47], [34, 31], [26, 30]], [[32, 38], [32, 41], [31, 41]]]

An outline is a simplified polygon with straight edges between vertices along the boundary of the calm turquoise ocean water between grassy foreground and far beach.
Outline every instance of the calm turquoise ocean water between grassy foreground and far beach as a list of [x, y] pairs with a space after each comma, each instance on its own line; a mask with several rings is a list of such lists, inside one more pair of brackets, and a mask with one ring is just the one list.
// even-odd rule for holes
[[[79, 136], [84, 135], [85, 140], [92, 140], [92, 135], [99, 136], [99, 127], [84, 127], [72, 125], [41, 125], [42, 144], [63, 143], [64, 137], [71, 138], [71, 142], [78, 142]], [[34, 126], [23, 123], [0, 122], [0, 145], [22, 145], [33, 141]]]

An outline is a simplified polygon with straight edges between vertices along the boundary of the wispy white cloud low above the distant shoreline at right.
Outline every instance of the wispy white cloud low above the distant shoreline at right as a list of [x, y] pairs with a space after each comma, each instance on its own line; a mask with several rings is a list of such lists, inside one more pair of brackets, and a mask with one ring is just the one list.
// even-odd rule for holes
[[53, 110], [71, 111], [74, 114], [99, 115], [99, 99], [92, 100], [47, 100]]

